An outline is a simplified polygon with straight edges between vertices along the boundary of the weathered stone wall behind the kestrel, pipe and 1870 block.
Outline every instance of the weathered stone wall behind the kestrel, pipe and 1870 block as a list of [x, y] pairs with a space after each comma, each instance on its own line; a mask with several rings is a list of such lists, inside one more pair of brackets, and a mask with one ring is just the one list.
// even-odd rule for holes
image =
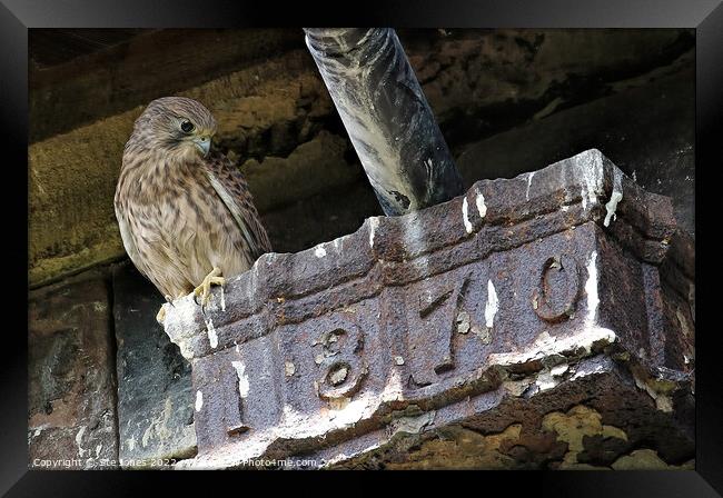
[[[693, 232], [692, 31], [398, 33], [466, 186], [601, 148], [671, 196]], [[277, 252], [354, 232], [382, 213], [377, 200], [300, 29], [152, 31], [30, 81], [30, 455], [191, 456], [190, 369], [153, 320], [161, 297], [127, 265], [112, 212], [135, 118], [164, 94], [205, 102], [219, 121], [215, 147], [246, 173]], [[395, 458], [428, 466], [439, 444]]]

